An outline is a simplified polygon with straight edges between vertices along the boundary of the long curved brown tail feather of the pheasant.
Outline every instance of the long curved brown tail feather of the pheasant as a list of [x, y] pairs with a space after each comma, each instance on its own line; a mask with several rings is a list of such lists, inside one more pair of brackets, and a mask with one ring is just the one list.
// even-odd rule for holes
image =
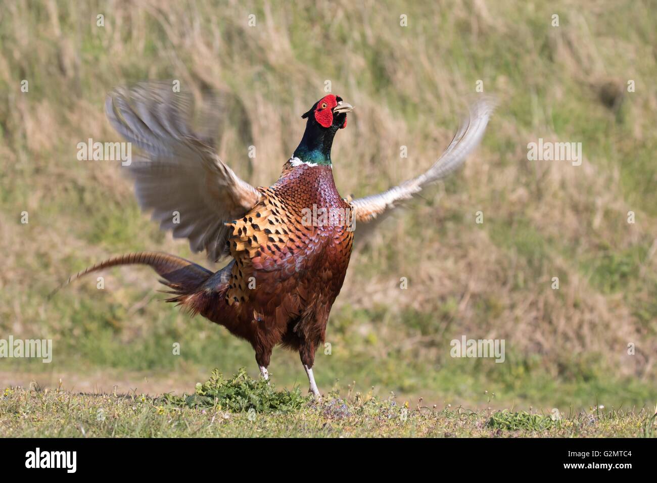
[[200, 287], [200, 285], [213, 275], [212, 271], [201, 265], [164, 252], [130, 253], [110, 258], [83, 271], [79, 271], [76, 275], [68, 277], [68, 280], [61, 283], [48, 295], [48, 299], [53, 298], [60, 289], [66, 287], [72, 281], [87, 275], [87, 273], [118, 265], [148, 265], [160, 277], [163, 277], [164, 280], [160, 280], [160, 282], [171, 288], [171, 292], [169, 293], [176, 294], [177, 296], [191, 294], [191, 292]]

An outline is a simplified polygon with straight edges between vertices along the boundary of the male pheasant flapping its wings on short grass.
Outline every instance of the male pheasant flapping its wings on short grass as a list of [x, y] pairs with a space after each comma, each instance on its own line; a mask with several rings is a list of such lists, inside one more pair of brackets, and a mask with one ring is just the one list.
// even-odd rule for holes
[[315, 351], [325, 342], [354, 227], [381, 219], [463, 164], [484, 135], [493, 102], [481, 98], [470, 106], [428, 171], [358, 199], [340, 196], [332, 175], [331, 146], [353, 110], [342, 98], [325, 95], [303, 114], [306, 131], [278, 181], [258, 188], [219, 159], [212, 137], [194, 131], [192, 107], [189, 95], [159, 83], [118, 88], [106, 99], [110, 124], [143, 152], [122, 168], [134, 181], [140, 207], [173, 237], [189, 239], [193, 252], [229, 262], [213, 273], [178, 256], [139, 252], [93, 265], [63, 285], [107, 267], [148, 265], [170, 289], [168, 302], [250, 342], [264, 379], [275, 346], [298, 350], [309, 392], [321, 398]]

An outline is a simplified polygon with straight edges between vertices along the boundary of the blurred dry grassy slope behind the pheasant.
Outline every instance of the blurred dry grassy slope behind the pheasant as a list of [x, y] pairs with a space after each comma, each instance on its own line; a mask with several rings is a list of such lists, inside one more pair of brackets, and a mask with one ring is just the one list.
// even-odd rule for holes
[[[357, 246], [328, 324], [331, 354], [317, 353], [319, 387], [466, 407], [654, 406], [656, 6], [4, 2], [0, 338], [51, 338], [53, 361], [0, 359], [0, 383], [180, 394], [214, 367], [258, 374], [248, 343], [161, 302], [146, 267], [46, 299], [71, 273], [124, 252], [222, 266], [139, 212], [120, 162], [77, 159], [88, 138], [120, 140], [104, 115], [116, 85], [173, 79], [181, 91], [222, 91], [221, 158], [270, 185], [330, 81], [356, 106], [332, 156], [345, 196], [428, 168], [480, 85], [500, 101], [480, 149]], [[539, 138], [581, 142], [581, 166], [528, 161]], [[505, 339], [505, 362], [450, 357], [463, 335]], [[269, 369], [278, 386], [305, 392], [298, 354], [275, 350]]]

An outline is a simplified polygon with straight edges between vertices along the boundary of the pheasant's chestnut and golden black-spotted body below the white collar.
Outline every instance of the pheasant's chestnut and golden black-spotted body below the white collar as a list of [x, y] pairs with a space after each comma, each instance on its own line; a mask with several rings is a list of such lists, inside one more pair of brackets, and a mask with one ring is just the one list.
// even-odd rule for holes
[[[279, 181], [259, 191], [258, 204], [227, 223], [235, 264], [225, 287], [217, 287], [217, 296], [239, 322], [227, 325], [225, 310], [217, 312], [216, 304], [200, 312], [256, 342], [256, 359], [266, 366], [276, 344], [308, 346], [312, 354], [323, 344], [328, 313], [349, 264], [353, 231], [340, 216], [350, 205], [340, 197], [327, 166], [286, 164]], [[327, 214], [325, 223], [312, 223], [313, 209]]]

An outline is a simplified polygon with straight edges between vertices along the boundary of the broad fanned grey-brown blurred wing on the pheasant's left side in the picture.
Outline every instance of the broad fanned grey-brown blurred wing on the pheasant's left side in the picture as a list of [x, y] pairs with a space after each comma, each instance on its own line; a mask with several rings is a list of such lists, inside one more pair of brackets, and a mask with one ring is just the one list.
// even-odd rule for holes
[[143, 150], [123, 167], [141, 209], [216, 261], [229, 253], [223, 223], [244, 216], [260, 193], [221, 162], [210, 137], [193, 131], [192, 106], [191, 95], [173, 92], [170, 83], [139, 83], [115, 89], [105, 110], [112, 127]]

